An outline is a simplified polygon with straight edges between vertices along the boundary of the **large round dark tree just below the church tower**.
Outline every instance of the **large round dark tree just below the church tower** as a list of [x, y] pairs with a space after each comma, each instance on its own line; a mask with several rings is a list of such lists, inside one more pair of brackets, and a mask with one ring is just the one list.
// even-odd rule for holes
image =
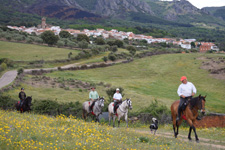
[[45, 31], [45, 32], [43, 32], [41, 34], [41, 38], [49, 46], [56, 44], [57, 41], [59, 40], [59, 37], [57, 35], [55, 35], [54, 32], [52, 32], [52, 31]]

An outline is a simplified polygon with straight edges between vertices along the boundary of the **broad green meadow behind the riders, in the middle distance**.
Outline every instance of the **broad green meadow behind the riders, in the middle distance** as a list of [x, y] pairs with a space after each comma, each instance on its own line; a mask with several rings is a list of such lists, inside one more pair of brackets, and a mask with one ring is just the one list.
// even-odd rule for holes
[[[79, 71], [58, 71], [46, 74], [51, 78], [64, 80], [77, 79], [89, 83], [111, 84], [113, 87], [123, 87], [125, 98], [131, 97], [133, 110], [138, 111], [149, 105], [154, 99], [168, 107], [173, 101], [179, 99], [176, 91], [180, 85], [180, 77], [186, 75], [188, 80], [197, 88], [197, 94], [207, 95], [206, 109], [213, 112], [225, 112], [224, 81], [212, 78], [206, 70], [199, 69], [201, 56], [214, 57], [213, 54], [169, 54], [138, 59], [128, 64], [120, 64], [107, 68], [98, 68]], [[215, 56], [216, 57], [216, 56]], [[29, 76], [27, 80], [31, 78]], [[28, 95], [34, 99], [57, 99], [58, 101], [85, 101], [88, 98], [87, 90], [79, 88], [64, 90], [60, 88], [40, 85], [22, 84]], [[106, 88], [97, 86], [100, 95], [107, 96]], [[17, 98], [19, 90], [6, 94]]]

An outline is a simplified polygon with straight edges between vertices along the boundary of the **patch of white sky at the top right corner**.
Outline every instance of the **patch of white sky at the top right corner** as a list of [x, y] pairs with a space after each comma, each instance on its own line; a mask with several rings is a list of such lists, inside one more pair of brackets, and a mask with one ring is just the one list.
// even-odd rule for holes
[[[172, 0], [162, 0], [172, 1]], [[192, 5], [201, 9], [202, 7], [219, 7], [225, 6], [225, 0], [188, 0]]]

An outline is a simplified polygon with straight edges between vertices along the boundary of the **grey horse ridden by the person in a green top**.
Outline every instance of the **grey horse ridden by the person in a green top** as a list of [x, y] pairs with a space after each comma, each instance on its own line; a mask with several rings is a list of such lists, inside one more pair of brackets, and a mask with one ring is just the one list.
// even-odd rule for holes
[[89, 106], [92, 104], [90, 101], [85, 101], [83, 103], [83, 113], [82, 117], [84, 120], [87, 119], [87, 116], [89, 114], [92, 114], [95, 116], [95, 122], [99, 122], [99, 115], [102, 113], [102, 108], [104, 107], [104, 97], [99, 97], [97, 101], [95, 102], [92, 111], [89, 110]]

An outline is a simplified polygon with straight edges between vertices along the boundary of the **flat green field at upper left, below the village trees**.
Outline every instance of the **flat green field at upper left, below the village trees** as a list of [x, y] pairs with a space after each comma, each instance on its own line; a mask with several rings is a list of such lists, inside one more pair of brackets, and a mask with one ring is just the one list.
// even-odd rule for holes
[[75, 56], [77, 50], [0, 41], [0, 58], [14, 61], [68, 59], [68, 53]]

